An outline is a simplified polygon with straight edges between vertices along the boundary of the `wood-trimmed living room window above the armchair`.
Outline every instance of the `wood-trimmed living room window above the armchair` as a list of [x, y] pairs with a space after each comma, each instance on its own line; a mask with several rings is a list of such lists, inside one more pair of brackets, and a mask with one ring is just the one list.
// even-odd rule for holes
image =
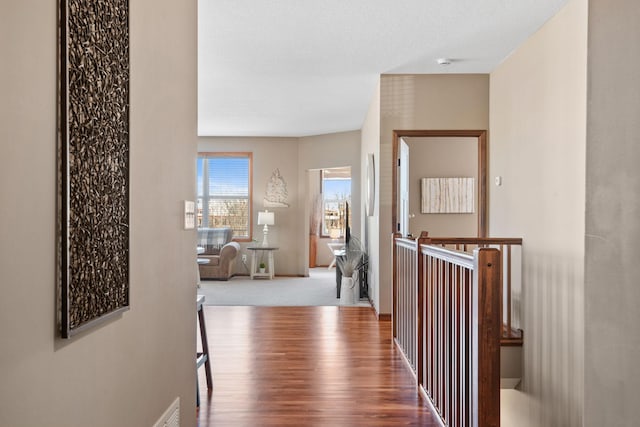
[[251, 168], [251, 153], [198, 154], [198, 228], [231, 227], [234, 240], [250, 240]]

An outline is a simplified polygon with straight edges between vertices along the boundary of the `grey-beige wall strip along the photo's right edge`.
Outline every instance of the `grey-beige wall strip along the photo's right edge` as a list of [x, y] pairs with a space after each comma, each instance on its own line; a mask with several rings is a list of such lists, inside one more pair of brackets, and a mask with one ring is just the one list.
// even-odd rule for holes
[[589, 1], [584, 425], [640, 419], [640, 7]]

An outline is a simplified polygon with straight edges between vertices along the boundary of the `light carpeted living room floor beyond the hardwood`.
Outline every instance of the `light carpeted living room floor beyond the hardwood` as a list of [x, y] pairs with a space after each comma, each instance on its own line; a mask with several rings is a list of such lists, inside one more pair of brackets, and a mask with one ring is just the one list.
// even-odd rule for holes
[[[198, 289], [206, 305], [340, 305], [336, 298], [335, 269], [314, 268], [309, 277], [276, 277], [251, 280], [236, 276], [227, 282], [203, 280]], [[357, 305], [369, 306], [366, 299]]]

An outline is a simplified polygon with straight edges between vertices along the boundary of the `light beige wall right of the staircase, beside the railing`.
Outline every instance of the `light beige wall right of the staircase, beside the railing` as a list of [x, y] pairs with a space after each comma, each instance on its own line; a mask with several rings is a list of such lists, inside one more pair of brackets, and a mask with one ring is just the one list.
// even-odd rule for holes
[[506, 425], [582, 425], [586, 43], [573, 0], [491, 73], [491, 235], [524, 242], [524, 377]]

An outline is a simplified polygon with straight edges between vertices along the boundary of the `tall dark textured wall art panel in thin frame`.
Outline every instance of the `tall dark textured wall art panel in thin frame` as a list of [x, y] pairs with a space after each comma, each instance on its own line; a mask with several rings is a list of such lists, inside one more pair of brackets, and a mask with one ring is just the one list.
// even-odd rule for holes
[[60, 326], [129, 307], [129, 7], [60, 0]]

